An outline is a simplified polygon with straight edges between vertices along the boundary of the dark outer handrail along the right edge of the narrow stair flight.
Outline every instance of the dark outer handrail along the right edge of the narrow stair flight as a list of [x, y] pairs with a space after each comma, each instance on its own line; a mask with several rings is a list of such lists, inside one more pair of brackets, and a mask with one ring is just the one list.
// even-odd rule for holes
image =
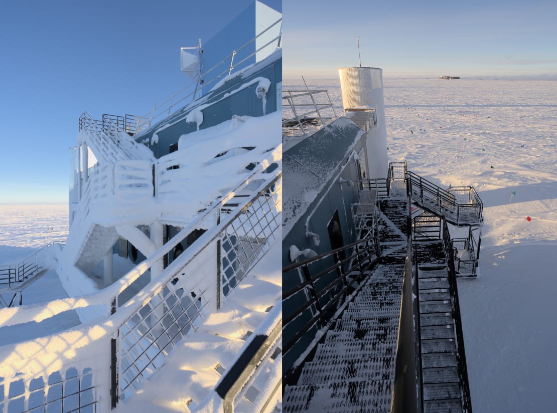
[[472, 402], [470, 400], [470, 385], [468, 383], [468, 368], [466, 364], [466, 352], [464, 348], [464, 335], [462, 332], [462, 320], [460, 313], [460, 303], [458, 301], [458, 286], [456, 282], [455, 261], [451, 251], [451, 235], [449, 234], [446, 220], [442, 219], [443, 224], [443, 249], [447, 257], [448, 263], [448, 283], [451, 292], [451, 307], [453, 319], [455, 320], [456, 343], [457, 343], [457, 361], [458, 361], [458, 377], [462, 389], [463, 409], [467, 413], [472, 413]]

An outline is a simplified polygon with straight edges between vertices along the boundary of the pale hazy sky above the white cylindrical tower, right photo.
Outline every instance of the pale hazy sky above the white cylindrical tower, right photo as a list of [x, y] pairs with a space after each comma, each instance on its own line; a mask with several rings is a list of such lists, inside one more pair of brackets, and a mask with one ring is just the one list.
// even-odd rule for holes
[[284, 0], [284, 78], [336, 78], [358, 62], [384, 77], [557, 78], [557, 1]]

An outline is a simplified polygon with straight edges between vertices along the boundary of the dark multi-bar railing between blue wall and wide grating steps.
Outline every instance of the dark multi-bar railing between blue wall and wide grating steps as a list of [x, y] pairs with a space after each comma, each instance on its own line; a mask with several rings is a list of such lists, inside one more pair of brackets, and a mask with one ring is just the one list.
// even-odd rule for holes
[[[349, 257], [346, 257], [344, 259], [335, 258], [335, 255], [341, 252], [346, 252], [353, 247], [356, 247], [355, 252], [349, 255]], [[315, 263], [328, 257], [335, 258], [335, 263], [312, 276], [310, 273], [309, 264]], [[283, 277], [285, 277], [286, 273], [301, 268], [301, 271], [302, 273], [304, 273], [305, 276], [305, 281], [302, 281], [301, 283], [296, 284], [295, 287], [284, 291], [282, 293], [282, 301], [284, 302], [286, 299], [293, 297], [296, 293], [302, 291], [302, 289], [306, 287], [309, 287], [312, 298], [302, 304], [302, 306], [292, 310], [286, 317], [283, 317], [282, 325], [286, 327], [287, 324], [290, 323], [290, 321], [300, 316], [300, 314], [302, 314], [302, 312], [304, 312], [307, 308], [311, 307], [312, 304], [315, 304], [317, 314], [312, 317], [310, 321], [305, 323], [302, 328], [298, 328], [298, 331], [294, 335], [294, 337], [290, 338], [288, 342], [283, 343], [282, 353], [286, 354], [318, 320], [321, 320], [321, 323], [323, 325], [327, 323], [328, 319], [325, 312], [328, 311], [338, 301], [338, 299], [341, 298], [343, 294], [349, 290], [352, 284], [352, 282], [349, 282], [347, 278], [348, 274], [346, 274], [346, 271], [343, 268], [345, 264], [349, 264], [351, 269], [356, 268], [359, 272], [359, 276], [361, 277], [361, 274], [363, 274], [366, 269], [374, 265], [374, 263], [377, 262], [377, 259], [377, 250], [375, 250], [374, 239], [366, 238], [350, 244], [346, 244], [343, 247], [335, 248], [328, 252], [321, 253], [319, 255], [316, 255], [315, 257], [307, 258], [289, 265], [285, 265], [285, 267], [282, 268]], [[330, 274], [332, 272], [335, 272], [337, 274], [337, 277], [328, 285], [321, 288], [319, 292], [317, 292], [315, 289], [315, 282], [319, 281], [319, 279], [321, 279], [326, 274]], [[339, 283], [343, 283], [343, 286], [338, 291], [333, 291], [333, 289], [337, 287]], [[322, 307], [319, 300], [321, 297], [324, 297], [325, 294], [329, 292], [332, 292], [334, 296], [329, 300], [327, 304], [325, 304], [325, 306]]]

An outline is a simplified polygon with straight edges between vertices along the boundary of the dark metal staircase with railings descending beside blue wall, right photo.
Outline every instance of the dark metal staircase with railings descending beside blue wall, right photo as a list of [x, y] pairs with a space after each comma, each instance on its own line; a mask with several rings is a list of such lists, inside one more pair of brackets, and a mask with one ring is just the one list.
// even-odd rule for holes
[[[453, 254], [453, 249], [462, 245], [451, 243], [444, 214], [460, 225], [481, 223], [481, 215], [472, 220], [473, 214], [459, 212], [456, 196], [453, 205], [446, 203], [444, 195], [434, 200], [424, 196], [416, 203], [419, 206], [411, 209], [415, 194], [422, 191], [416, 183], [411, 186], [405, 164], [403, 168], [397, 166], [391, 166], [387, 190], [382, 190], [379, 196], [377, 188], [382, 186], [379, 180], [360, 182], [360, 203], [352, 208], [356, 234], [374, 237], [379, 242], [376, 249], [369, 249], [374, 245], [369, 238], [344, 247], [356, 247], [354, 255], [344, 260], [353, 259], [356, 266], [341, 272], [348, 273], [345, 279], [348, 288], [341, 296], [344, 299], [331, 304], [330, 299], [323, 299], [326, 294], [319, 287], [311, 288], [326, 273], [313, 275], [313, 260], [334, 252], [283, 268], [285, 276], [296, 268], [306, 274], [305, 283], [284, 294], [285, 312], [289, 312], [288, 300], [293, 301], [296, 293], [309, 290], [312, 297], [305, 307], [292, 311], [284, 319], [285, 336], [293, 336], [284, 346], [286, 355], [296, 346], [306, 346], [284, 377], [285, 412], [472, 410]], [[431, 204], [423, 201], [426, 198]], [[481, 201], [478, 203], [481, 211]], [[474, 205], [470, 211], [478, 211], [476, 201], [470, 205]], [[441, 216], [433, 212], [442, 208], [447, 212]], [[411, 232], [413, 249], [409, 249]], [[373, 258], [361, 257], [371, 251]], [[362, 262], [370, 263], [363, 271]], [[409, 313], [413, 333], [401, 339], [404, 336], [401, 298], [404, 304], [406, 272], [412, 273], [412, 287], [408, 287], [412, 293], [404, 294], [417, 301], [410, 298], [415, 303], [410, 304], [414, 316]], [[337, 284], [329, 284], [334, 285]], [[331, 306], [336, 308], [334, 314], [324, 311]], [[304, 310], [311, 308], [317, 314], [304, 327], [300, 319], [304, 318]], [[408, 323], [408, 314], [406, 317], [404, 322]], [[290, 329], [294, 325], [298, 330], [292, 335]], [[313, 340], [307, 335], [314, 337]], [[404, 351], [400, 350], [401, 346], [415, 348], [412, 358], [415, 357], [416, 366], [412, 368], [416, 375], [409, 373], [411, 387], [417, 389], [415, 398], [410, 391], [397, 393], [395, 389], [395, 376], [400, 375], [399, 382], [405, 380], [406, 369], [397, 368], [398, 352]], [[412, 400], [401, 401], [408, 398]], [[400, 406], [405, 407], [401, 410]]]

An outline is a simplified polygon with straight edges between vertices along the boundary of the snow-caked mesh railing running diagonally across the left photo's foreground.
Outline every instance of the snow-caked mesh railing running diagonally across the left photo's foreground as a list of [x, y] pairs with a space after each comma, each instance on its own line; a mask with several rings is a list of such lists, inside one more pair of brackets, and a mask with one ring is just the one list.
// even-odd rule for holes
[[[17, 404], [21, 411], [62, 405], [69, 410], [93, 405], [93, 411], [107, 411], [139, 389], [164, 365], [168, 352], [192, 328], [202, 309], [219, 307], [227, 295], [223, 286], [236, 287], [231, 280], [241, 281], [270, 244], [280, 239], [281, 173], [268, 174], [267, 178], [235, 214], [223, 214], [217, 227], [204, 233], [157, 279], [120, 307], [121, 292], [182, 242], [201, 219], [209, 213], [218, 214], [219, 206], [247, 183], [214, 203], [192, 225], [104, 291], [20, 307], [21, 313], [11, 308], [0, 310], [4, 326], [41, 321], [92, 305], [108, 304], [112, 313], [99, 324], [0, 347], [0, 377], [4, 377], [0, 410], [8, 411], [8, 406]], [[259, 246], [252, 249], [253, 239]], [[250, 242], [243, 244], [246, 240]], [[225, 244], [238, 249], [227, 249]], [[241, 258], [244, 256], [252, 258]]]

